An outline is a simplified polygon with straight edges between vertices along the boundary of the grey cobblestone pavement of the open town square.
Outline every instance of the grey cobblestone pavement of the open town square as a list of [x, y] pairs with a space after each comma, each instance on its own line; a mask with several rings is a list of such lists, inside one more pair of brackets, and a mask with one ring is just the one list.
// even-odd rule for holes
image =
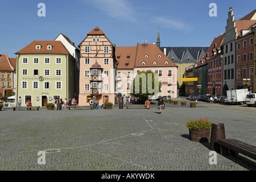
[[[178, 99], [179, 101], [182, 98]], [[247, 171], [255, 160], [217, 155], [210, 143], [192, 142], [186, 121], [225, 124], [226, 138], [253, 144], [256, 107], [198, 102], [195, 108], [166, 104], [151, 109], [4, 109], [0, 111], [0, 170], [58, 171]], [[39, 151], [46, 155], [38, 164]]]

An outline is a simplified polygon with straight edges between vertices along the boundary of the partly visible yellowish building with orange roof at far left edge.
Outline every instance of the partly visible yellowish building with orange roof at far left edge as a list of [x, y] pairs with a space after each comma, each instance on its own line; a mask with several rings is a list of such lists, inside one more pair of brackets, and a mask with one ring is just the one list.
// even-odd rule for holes
[[0, 92], [6, 97], [11, 92], [16, 92], [16, 59], [10, 58], [5, 53], [0, 55]]

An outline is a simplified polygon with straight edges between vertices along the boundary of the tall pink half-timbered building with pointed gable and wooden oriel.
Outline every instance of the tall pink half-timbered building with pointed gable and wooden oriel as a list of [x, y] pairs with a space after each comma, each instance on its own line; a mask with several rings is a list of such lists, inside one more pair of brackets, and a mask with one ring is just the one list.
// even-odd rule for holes
[[79, 44], [79, 105], [89, 105], [96, 96], [101, 105], [103, 98], [115, 103], [115, 46], [106, 35], [95, 27]]

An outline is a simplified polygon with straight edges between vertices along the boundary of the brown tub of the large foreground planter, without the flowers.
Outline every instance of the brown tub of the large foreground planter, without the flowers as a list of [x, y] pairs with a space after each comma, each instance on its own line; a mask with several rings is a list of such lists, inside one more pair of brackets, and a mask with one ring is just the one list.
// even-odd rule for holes
[[210, 129], [201, 130], [189, 130], [190, 140], [193, 142], [209, 142], [210, 141]]

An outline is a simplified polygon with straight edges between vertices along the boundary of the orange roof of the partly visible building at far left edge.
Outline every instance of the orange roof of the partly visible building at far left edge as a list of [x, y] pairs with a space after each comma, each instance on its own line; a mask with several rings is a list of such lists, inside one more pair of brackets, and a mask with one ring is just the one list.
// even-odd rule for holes
[[0, 70], [1, 71], [15, 71], [16, 70], [16, 59], [9, 58], [7, 54], [0, 54]]

